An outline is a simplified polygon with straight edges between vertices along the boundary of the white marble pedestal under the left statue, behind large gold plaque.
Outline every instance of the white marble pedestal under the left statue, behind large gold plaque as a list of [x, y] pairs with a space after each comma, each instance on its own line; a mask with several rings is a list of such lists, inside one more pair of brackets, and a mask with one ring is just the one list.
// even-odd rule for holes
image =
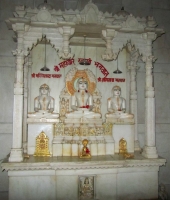
[[27, 153], [33, 155], [36, 147], [36, 137], [43, 131], [49, 138], [49, 150], [52, 154], [52, 140], [54, 134], [53, 124], [59, 122], [59, 119], [33, 119], [28, 118], [28, 143]]

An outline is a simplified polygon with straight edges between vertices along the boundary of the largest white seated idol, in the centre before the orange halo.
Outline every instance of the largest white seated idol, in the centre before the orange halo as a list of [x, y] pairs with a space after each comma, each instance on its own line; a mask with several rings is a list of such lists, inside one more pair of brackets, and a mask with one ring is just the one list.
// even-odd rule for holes
[[71, 96], [70, 113], [66, 113], [67, 118], [101, 118], [101, 114], [95, 113], [93, 109], [93, 97], [88, 92], [88, 82], [85, 78], [77, 80], [77, 91]]

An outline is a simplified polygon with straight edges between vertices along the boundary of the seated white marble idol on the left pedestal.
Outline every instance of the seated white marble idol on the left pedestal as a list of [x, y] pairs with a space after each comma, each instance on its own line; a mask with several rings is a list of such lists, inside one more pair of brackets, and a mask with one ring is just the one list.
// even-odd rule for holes
[[28, 113], [30, 118], [58, 118], [58, 113], [53, 113], [55, 100], [49, 96], [50, 88], [47, 84], [43, 84], [39, 88], [40, 95], [34, 99], [34, 111]]

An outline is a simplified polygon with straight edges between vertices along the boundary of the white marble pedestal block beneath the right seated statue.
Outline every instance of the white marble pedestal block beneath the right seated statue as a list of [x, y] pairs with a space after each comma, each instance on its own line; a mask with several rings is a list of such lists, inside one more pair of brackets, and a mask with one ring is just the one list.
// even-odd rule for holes
[[115, 141], [115, 153], [119, 153], [119, 141], [124, 138], [127, 142], [128, 153], [134, 153], [135, 133], [134, 125], [130, 124], [114, 124], [112, 127], [112, 135]]

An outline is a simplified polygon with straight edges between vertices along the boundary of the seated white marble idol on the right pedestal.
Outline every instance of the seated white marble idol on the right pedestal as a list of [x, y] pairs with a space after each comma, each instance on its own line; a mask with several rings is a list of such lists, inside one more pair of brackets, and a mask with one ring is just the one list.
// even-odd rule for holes
[[134, 115], [126, 113], [126, 101], [121, 97], [121, 88], [114, 86], [112, 88], [113, 97], [110, 97], [107, 101], [107, 110], [109, 113], [106, 114], [107, 118], [129, 118], [133, 119]]

